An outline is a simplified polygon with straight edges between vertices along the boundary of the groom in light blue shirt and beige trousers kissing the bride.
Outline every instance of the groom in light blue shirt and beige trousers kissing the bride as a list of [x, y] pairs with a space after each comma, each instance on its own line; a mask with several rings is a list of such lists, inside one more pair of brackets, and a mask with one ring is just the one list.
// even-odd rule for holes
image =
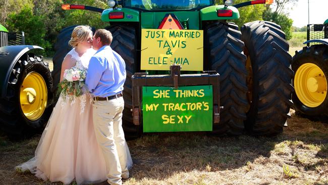
[[[107, 166], [107, 182], [122, 184], [129, 177], [122, 128], [122, 97], [126, 79], [125, 62], [112, 50], [112, 33], [98, 29], [92, 41], [97, 53], [89, 62], [85, 83], [93, 95], [93, 124]], [[122, 178], [121, 178], [122, 177]]]

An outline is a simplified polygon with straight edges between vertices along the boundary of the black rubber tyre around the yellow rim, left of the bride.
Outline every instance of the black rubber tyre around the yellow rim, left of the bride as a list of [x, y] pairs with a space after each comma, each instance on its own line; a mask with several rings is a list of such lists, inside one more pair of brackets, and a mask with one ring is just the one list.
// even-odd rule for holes
[[[53, 96], [51, 93], [52, 78], [48, 64], [43, 57], [24, 54], [13, 67], [10, 74], [6, 98], [0, 100], [1, 129], [13, 139], [31, 136], [43, 130], [52, 112]], [[39, 73], [47, 86], [47, 105], [37, 120], [29, 120], [22, 112], [20, 105], [20, 87], [30, 72]]]

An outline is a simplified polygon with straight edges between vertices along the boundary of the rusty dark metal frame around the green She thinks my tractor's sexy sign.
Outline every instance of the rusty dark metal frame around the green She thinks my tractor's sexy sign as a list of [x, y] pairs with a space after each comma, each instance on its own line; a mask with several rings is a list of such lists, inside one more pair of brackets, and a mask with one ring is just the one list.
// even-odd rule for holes
[[135, 73], [132, 76], [132, 115], [133, 123], [142, 123], [142, 86], [212, 85], [213, 124], [220, 122], [220, 75], [216, 71], [203, 71], [202, 74], [181, 74], [180, 65], [171, 65], [169, 75], [147, 75]]

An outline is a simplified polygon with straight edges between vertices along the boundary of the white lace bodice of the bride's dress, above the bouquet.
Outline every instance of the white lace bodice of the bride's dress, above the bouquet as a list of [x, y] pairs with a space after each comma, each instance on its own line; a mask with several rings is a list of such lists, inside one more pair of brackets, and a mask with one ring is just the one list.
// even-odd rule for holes
[[88, 49], [87, 52], [85, 52], [81, 57], [79, 54], [75, 51], [75, 48], [73, 48], [66, 56], [70, 55], [72, 56], [72, 59], [76, 60], [75, 67], [79, 69], [87, 69], [89, 66], [89, 61], [91, 57], [96, 53], [93, 49]]

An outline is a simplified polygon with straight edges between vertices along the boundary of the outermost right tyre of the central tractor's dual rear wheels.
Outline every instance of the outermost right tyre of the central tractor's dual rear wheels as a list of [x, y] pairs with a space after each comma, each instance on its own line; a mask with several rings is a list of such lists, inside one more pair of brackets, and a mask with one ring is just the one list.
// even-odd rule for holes
[[276, 135], [283, 131], [293, 105], [289, 44], [281, 27], [272, 22], [246, 23], [241, 32], [251, 74], [245, 127], [254, 135]]

